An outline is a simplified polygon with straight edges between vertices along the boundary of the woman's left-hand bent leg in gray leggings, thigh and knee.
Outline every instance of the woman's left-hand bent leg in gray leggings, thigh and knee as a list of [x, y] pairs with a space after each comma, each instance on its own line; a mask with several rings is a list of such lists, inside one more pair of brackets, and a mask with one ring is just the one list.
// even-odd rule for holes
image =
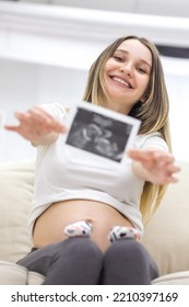
[[84, 276], [85, 272], [91, 272], [91, 275], [98, 274], [103, 253], [88, 238], [69, 238], [29, 252], [17, 261], [17, 264], [45, 276], [71, 274], [80, 277]]

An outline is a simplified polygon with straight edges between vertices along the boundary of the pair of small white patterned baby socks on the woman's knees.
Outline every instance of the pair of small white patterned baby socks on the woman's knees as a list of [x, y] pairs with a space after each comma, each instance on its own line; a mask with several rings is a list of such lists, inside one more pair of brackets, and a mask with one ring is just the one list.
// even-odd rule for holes
[[[91, 223], [81, 220], [75, 221], [73, 224], [69, 224], [64, 228], [64, 234], [68, 237], [91, 237], [93, 230], [93, 226]], [[126, 227], [126, 226], [115, 226], [110, 229], [108, 235], [108, 240], [113, 243], [118, 240], [122, 239], [139, 239], [140, 234], [133, 227]]]

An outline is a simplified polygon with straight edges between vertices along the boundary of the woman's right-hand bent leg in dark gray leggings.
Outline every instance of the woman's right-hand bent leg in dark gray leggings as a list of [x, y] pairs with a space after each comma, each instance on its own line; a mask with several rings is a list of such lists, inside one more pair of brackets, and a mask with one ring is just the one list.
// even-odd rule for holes
[[158, 269], [139, 241], [114, 242], [105, 253], [104, 284], [150, 284]]

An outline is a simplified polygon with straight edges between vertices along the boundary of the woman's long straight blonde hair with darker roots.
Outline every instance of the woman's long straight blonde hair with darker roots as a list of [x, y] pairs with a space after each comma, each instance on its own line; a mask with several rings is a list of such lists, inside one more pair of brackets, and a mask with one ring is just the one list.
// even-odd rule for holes
[[[103, 100], [107, 98], [107, 92], [104, 81], [104, 67], [106, 61], [114, 55], [119, 45], [126, 39], [138, 39], [145, 45], [152, 54], [152, 69], [150, 81], [145, 91], [145, 102], [137, 102], [131, 109], [129, 115], [141, 121], [139, 134], [149, 134], [160, 132], [164, 140], [167, 143], [169, 151], [172, 151], [169, 127], [168, 127], [168, 111], [169, 101], [166, 90], [163, 67], [158, 50], [154, 43], [144, 37], [135, 35], [120, 37], [110, 44], [98, 56], [92, 65], [88, 73], [86, 89], [83, 100], [93, 104], [103, 104]], [[152, 214], [160, 206], [165, 194], [166, 185], [155, 185], [151, 182], [145, 182], [140, 201], [140, 211], [143, 216], [143, 223], [146, 224]]]

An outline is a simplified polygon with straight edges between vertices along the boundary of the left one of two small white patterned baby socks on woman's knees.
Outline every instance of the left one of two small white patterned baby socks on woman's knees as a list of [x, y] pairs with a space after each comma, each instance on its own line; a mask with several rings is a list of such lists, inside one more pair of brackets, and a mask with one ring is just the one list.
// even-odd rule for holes
[[69, 224], [63, 232], [68, 237], [91, 237], [92, 224], [85, 220]]

